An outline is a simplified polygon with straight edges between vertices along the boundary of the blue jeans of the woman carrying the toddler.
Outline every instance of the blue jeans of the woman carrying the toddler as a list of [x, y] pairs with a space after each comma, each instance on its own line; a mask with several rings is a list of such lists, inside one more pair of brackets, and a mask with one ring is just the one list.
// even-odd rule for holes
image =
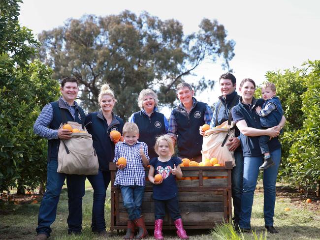
[[[264, 225], [273, 226], [274, 205], [276, 202], [276, 180], [278, 168], [281, 160], [281, 149], [270, 152], [272, 160], [275, 162], [270, 168], [263, 170], [263, 214]], [[259, 166], [263, 163], [263, 157], [244, 157], [243, 169], [243, 192], [241, 198], [240, 228], [250, 229], [250, 219], [256, 181], [259, 174]]]

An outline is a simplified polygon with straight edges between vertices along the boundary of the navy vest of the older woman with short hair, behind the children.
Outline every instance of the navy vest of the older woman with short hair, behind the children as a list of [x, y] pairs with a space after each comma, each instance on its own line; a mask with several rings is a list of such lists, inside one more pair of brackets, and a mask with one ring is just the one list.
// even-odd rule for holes
[[158, 157], [155, 152], [156, 137], [166, 134], [164, 126], [164, 115], [159, 112], [153, 112], [149, 118], [142, 111], [134, 113], [134, 123], [139, 127], [139, 142], [148, 145], [148, 154], [150, 159]]

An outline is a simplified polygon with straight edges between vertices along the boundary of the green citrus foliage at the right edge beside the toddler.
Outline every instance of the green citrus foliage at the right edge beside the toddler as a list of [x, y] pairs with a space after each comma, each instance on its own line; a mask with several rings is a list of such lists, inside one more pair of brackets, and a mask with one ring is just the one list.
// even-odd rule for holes
[[320, 184], [320, 61], [306, 68], [267, 72], [276, 84], [287, 119], [281, 136], [280, 176], [299, 187], [316, 190]]

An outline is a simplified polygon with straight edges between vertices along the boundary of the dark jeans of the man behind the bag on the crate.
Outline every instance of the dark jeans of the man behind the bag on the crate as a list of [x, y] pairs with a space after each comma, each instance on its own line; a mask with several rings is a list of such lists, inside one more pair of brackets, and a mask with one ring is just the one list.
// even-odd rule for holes
[[234, 152], [235, 167], [231, 171], [231, 185], [232, 185], [232, 200], [233, 200], [233, 214], [234, 222], [238, 223], [241, 212], [241, 195], [243, 183], [243, 153], [242, 151]]

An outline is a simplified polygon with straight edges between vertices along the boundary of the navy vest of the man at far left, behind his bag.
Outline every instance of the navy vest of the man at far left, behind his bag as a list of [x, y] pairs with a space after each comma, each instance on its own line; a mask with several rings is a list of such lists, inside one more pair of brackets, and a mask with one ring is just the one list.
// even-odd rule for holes
[[[59, 129], [61, 123], [62, 123], [62, 116], [59, 109], [59, 102], [51, 102], [50, 103], [53, 109], [53, 119], [49, 125], [49, 128], [51, 129]], [[82, 123], [82, 118], [85, 118], [85, 114], [83, 110], [77, 106], [75, 107], [75, 117], [74, 120], [69, 110], [61, 108], [62, 111], [65, 111], [65, 116], [67, 121], [76, 121], [78, 123]], [[81, 117], [80, 117], [81, 115]], [[85, 119], [83, 119], [85, 121]], [[58, 159], [58, 151], [59, 151], [59, 145], [60, 145], [60, 139], [52, 139], [48, 141], [48, 161], [50, 159]]]

